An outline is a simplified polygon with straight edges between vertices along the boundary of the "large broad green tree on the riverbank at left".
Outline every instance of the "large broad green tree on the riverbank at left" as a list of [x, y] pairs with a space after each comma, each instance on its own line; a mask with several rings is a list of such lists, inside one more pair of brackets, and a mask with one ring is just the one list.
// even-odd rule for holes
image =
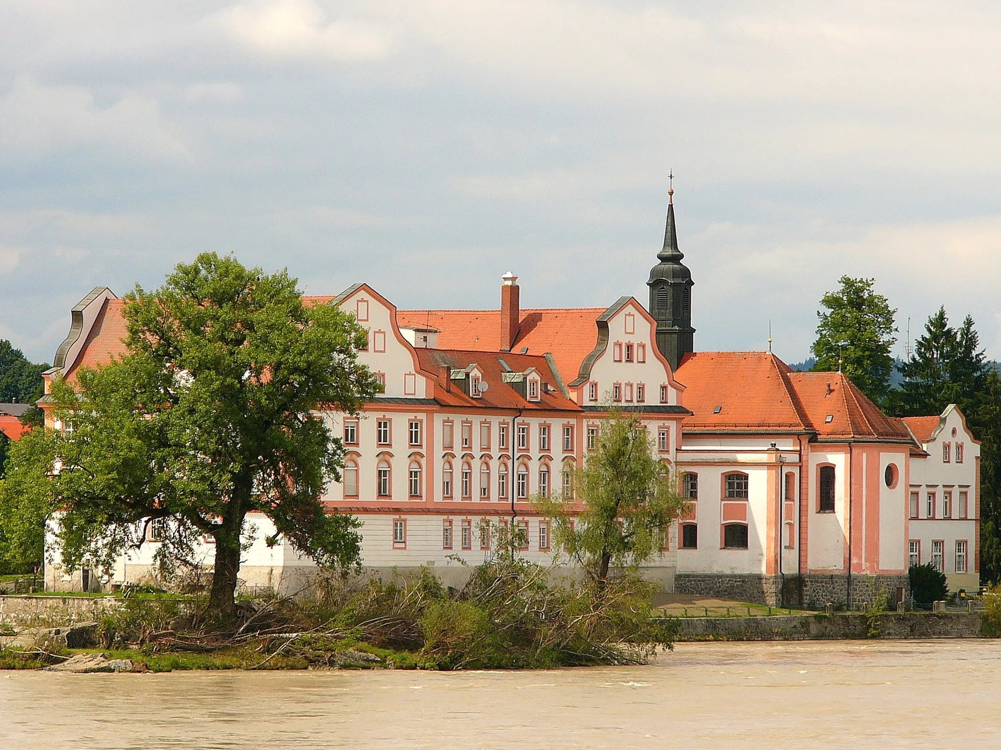
[[210, 537], [209, 612], [229, 619], [250, 511], [320, 564], [356, 563], [357, 520], [319, 499], [344, 448], [317, 412], [355, 412], [378, 389], [356, 360], [366, 334], [354, 319], [304, 305], [284, 271], [215, 254], [154, 292], [137, 286], [123, 313], [129, 353], [51, 389], [68, 428], [45, 438], [52, 471], [39, 478], [37, 459], [9, 467], [36, 505], [64, 511], [64, 564], [108, 567], [150, 523], [166, 567]]

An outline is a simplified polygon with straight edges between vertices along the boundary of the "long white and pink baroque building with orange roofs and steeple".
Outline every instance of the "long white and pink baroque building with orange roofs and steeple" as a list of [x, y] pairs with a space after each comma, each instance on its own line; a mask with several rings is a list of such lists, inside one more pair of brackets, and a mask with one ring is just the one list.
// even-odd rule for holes
[[[348, 449], [323, 500], [362, 520], [364, 566], [427, 565], [461, 583], [513, 524], [528, 559], [559, 558], [530, 498], [573, 493], [611, 401], [641, 414], [692, 501], [645, 569], [668, 591], [858, 606], [906, 589], [916, 542], [950, 586], [975, 589], [979, 447], [958, 409], [889, 418], [840, 373], [793, 372], [770, 352], [696, 352], [683, 259], [672, 201], [647, 306], [523, 309], [512, 273], [489, 310], [397, 310], [367, 284], [308, 298], [368, 329], [358, 357], [384, 386], [358, 415], [323, 415]], [[98, 288], [74, 308], [47, 382], [123, 353], [122, 304]], [[934, 461], [944, 444], [951, 460]], [[241, 577], [293, 589], [310, 563], [286, 547], [251, 547]], [[150, 562], [139, 550], [106, 583], [149, 575]], [[49, 585], [79, 585], [50, 567]]]

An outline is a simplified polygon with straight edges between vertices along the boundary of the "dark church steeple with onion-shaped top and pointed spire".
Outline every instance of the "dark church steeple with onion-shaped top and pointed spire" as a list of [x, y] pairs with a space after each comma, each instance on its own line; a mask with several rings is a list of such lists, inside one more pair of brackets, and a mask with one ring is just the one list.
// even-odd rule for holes
[[657, 321], [657, 348], [677, 370], [682, 357], [695, 348], [692, 327], [692, 272], [682, 263], [684, 254], [678, 249], [675, 228], [675, 191], [668, 190], [668, 227], [664, 233], [664, 249], [657, 254], [658, 263], [650, 270], [650, 314]]

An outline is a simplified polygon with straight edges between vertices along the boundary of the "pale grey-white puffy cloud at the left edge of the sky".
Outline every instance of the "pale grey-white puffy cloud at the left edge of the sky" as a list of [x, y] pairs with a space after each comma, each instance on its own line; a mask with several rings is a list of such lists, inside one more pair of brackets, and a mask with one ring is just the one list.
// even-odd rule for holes
[[133, 94], [101, 107], [82, 86], [45, 86], [14, 79], [0, 100], [0, 159], [20, 163], [97, 146], [104, 154], [174, 160], [187, 149], [159, 104]]

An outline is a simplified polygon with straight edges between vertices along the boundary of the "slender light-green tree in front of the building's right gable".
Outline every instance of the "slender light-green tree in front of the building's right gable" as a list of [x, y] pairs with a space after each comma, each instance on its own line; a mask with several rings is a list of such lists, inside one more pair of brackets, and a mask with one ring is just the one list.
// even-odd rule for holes
[[599, 583], [660, 554], [687, 502], [635, 412], [613, 410], [602, 422], [572, 486], [574, 497], [537, 497], [536, 507], [553, 520], [556, 549]]

